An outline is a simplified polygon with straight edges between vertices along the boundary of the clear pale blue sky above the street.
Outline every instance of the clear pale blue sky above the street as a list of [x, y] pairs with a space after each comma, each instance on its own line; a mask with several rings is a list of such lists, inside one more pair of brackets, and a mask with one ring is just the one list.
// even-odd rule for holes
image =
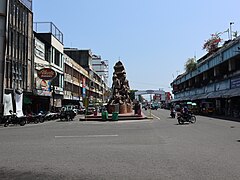
[[239, 7], [239, 0], [33, 0], [34, 22], [53, 22], [65, 47], [109, 60], [110, 79], [120, 58], [131, 89], [165, 91], [188, 58], [206, 53], [212, 33], [230, 22], [240, 32]]

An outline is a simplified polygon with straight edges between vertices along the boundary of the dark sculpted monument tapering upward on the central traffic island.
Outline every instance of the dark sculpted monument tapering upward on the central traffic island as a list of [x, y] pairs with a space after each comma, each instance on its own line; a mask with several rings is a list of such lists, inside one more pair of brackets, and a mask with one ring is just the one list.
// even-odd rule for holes
[[132, 113], [132, 101], [129, 96], [130, 87], [121, 61], [118, 61], [114, 66], [112, 81], [112, 95], [108, 102], [108, 113]]

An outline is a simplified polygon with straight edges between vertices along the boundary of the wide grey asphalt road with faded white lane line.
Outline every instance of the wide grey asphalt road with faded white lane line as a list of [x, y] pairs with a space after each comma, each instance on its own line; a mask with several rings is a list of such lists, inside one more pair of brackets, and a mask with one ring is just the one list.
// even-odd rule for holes
[[151, 115], [0, 127], [0, 179], [240, 179], [239, 122]]

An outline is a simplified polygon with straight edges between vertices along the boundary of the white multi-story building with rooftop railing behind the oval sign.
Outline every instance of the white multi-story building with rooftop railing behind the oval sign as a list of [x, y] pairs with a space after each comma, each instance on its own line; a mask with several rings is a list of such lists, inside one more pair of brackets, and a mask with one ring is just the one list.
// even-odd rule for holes
[[[45, 89], [43, 89], [43, 87], [39, 89], [40, 85], [37, 81], [35, 82], [35, 95], [37, 96], [35, 96], [35, 99], [37, 98], [38, 102], [43, 102], [43, 99], [46, 100], [46, 97], [44, 96], [49, 96], [48, 91], [51, 91], [51, 98], [48, 104], [50, 104], [51, 109], [58, 109], [62, 107], [63, 99], [63, 33], [52, 22], [36, 22], [34, 23], [34, 30], [36, 32], [36, 39], [44, 44], [40, 49], [43, 49], [44, 47], [45, 51], [44, 55], [41, 55], [43, 61], [39, 62], [39, 60], [37, 61], [36, 59], [35, 71], [39, 71], [41, 68], [49, 68], [56, 73], [54, 79], [43, 83]], [[39, 82], [42, 83], [42, 81]], [[45, 102], [46, 101], [44, 101], [44, 103]]]

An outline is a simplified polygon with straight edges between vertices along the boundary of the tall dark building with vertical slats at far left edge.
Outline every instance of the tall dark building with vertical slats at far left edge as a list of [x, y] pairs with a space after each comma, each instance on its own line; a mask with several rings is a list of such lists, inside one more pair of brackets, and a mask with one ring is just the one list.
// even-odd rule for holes
[[[18, 92], [23, 102], [32, 92], [33, 13], [31, 0], [0, 3], [0, 103]], [[22, 97], [21, 97], [22, 98]], [[16, 99], [15, 99], [16, 100]], [[2, 111], [2, 108], [0, 108]], [[15, 103], [13, 109], [16, 110]], [[21, 107], [20, 107], [21, 109]]]

